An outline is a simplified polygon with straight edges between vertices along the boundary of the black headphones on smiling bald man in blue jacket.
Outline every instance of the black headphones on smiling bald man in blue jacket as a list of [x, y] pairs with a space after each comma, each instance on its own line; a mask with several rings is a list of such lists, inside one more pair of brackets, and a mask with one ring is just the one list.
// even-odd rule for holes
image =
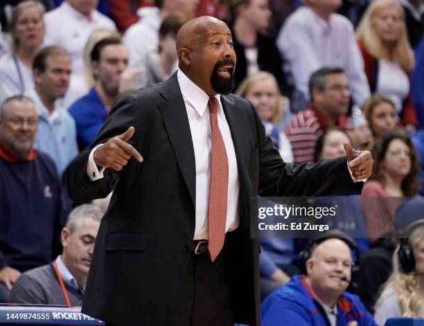
[[359, 271], [359, 258], [360, 258], [360, 251], [359, 248], [357, 248], [357, 245], [355, 244], [355, 241], [346, 233], [342, 232], [341, 230], [333, 229], [328, 230], [326, 233], [322, 233], [318, 237], [314, 239], [310, 239], [308, 244], [306, 244], [303, 251], [300, 253], [299, 257], [299, 271], [301, 274], [306, 275], [308, 274], [308, 271], [306, 270], [306, 262], [310, 259], [312, 256], [312, 252], [317, 248], [319, 244], [322, 242], [328, 240], [328, 239], [340, 239], [345, 244], [348, 245], [349, 248], [351, 248], [351, 251], [355, 253], [355, 261], [353, 262], [352, 269], [351, 269], [351, 279], [353, 279], [353, 275], [357, 274]]

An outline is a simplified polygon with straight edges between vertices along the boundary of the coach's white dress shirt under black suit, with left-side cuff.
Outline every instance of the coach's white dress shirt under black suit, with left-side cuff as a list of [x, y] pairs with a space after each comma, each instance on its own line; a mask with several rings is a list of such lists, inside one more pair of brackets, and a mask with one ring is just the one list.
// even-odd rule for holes
[[[188, 123], [190, 125], [191, 138], [195, 154], [196, 166], [196, 203], [195, 203], [195, 235], [194, 239], [208, 239], [208, 203], [209, 183], [211, 176], [211, 120], [209, 116], [209, 96], [194, 84], [182, 71], [177, 73], [178, 84], [182, 90], [184, 104], [186, 105]], [[220, 94], [215, 96], [219, 103], [218, 125], [227, 150], [229, 165], [229, 185], [227, 194], [227, 222], [226, 231], [232, 231], [239, 224], [238, 217], [238, 194], [240, 183], [238, 180], [236, 152], [229, 125], [222, 110]], [[99, 145], [98, 145], [99, 146]], [[98, 147], [97, 146], [97, 147]], [[102, 168], [100, 172], [94, 163], [93, 154], [95, 147], [89, 155], [87, 174], [92, 181], [103, 178]], [[141, 153], [143, 155], [143, 153]]]

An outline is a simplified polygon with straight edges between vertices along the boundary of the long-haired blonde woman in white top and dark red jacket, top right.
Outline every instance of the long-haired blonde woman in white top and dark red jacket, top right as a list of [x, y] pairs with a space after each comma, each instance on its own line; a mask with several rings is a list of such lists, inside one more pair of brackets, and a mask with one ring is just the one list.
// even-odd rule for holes
[[371, 1], [357, 28], [356, 39], [371, 93], [389, 97], [401, 123], [413, 131], [417, 120], [409, 96], [409, 73], [414, 67], [414, 53], [407, 39], [400, 3], [397, 0]]

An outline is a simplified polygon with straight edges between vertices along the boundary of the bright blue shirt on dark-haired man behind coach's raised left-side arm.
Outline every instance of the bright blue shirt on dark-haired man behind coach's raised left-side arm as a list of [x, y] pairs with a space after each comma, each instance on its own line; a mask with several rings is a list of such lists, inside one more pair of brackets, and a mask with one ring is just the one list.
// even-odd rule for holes
[[75, 120], [78, 145], [82, 150], [94, 141], [109, 111], [94, 87], [74, 102], [68, 111]]

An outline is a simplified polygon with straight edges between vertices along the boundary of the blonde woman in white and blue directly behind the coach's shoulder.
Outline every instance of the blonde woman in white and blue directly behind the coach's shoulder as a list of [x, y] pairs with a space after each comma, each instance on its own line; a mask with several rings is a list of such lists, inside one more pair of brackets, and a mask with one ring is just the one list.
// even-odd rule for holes
[[284, 112], [282, 109], [283, 98], [274, 75], [265, 71], [254, 73], [242, 81], [236, 94], [254, 105], [267, 136], [270, 136], [272, 143], [278, 148], [281, 158], [285, 162], [292, 162], [290, 141], [277, 127], [281, 125], [281, 120], [290, 120], [290, 112]]

